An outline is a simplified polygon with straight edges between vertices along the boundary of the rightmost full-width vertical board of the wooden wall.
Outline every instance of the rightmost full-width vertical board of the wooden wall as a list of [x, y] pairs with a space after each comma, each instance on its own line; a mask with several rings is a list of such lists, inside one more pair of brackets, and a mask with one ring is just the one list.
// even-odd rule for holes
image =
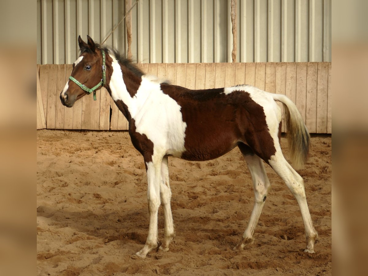
[[318, 63], [317, 74], [317, 133], [327, 133], [328, 62]]

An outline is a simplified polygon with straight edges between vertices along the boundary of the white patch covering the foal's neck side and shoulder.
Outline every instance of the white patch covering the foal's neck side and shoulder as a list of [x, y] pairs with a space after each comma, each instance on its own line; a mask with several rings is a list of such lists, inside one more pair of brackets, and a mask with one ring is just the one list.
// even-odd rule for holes
[[180, 105], [164, 94], [157, 78], [142, 76], [141, 85], [132, 98], [123, 81], [123, 73], [112, 56], [113, 73], [110, 80], [111, 96], [122, 100], [135, 120], [136, 131], [145, 134], [153, 142], [154, 153], [162, 157], [171, 154], [177, 157], [185, 151], [184, 138], [187, 124], [183, 122]]

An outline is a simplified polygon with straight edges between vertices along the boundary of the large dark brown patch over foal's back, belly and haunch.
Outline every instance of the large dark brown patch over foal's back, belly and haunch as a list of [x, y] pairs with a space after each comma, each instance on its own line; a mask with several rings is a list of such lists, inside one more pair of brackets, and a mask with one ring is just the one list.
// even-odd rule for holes
[[162, 84], [164, 93], [181, 106], [185, 130], [185, 149], [181, 158], [203, 161], [224, 155], [240, 142], [268, 162], [276, 153], [263, 107], [249, 93], [223, 88], [189, 90]]

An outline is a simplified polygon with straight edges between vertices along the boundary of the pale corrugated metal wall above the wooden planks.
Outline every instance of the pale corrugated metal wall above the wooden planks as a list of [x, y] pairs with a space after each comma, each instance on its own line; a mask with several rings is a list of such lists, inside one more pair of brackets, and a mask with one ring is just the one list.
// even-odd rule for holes
[[[78, 35], [102, 42], [124, 6], [37, 0], [37, 63], [73, 63]], [[231, 62], [230, 0], [139, 0], [131, 13], [138, 63]], [[124, 22], [106, 44], [125, 52]], [[265, 61], [331, 61], [331, 0], [237, 0], [237, 62]]]

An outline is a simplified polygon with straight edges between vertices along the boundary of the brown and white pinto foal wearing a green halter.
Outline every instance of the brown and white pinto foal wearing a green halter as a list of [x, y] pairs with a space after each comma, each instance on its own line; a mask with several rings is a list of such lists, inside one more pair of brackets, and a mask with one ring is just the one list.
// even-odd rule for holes
[[[129, 122], [134, 147], [143, 155], [148, 179], [149, 230], [142, 258], [158, 242], [158, 209], [164, 210], [164, 239], [160, 250], [169, 250], [174, 237], [171, 214], [168, 156], [204, 161], [238, 146], [252, 176], [254, 207], [243, 238], [234, 250], [253, 242], [254, 230], [270, 183], [263, 161], [269, 164], [297, 199], [305, 227], [305, 252], [314, 252], [317, 238], [305, 197], [302, 177], [290, 166], [280, 148], [281, 111], [284, 105], [290, 158], [294, 167], [305, 163], [309, 134], [300, 113], [284, 95], [250, 85], [190, 90], [144, 75], [117, 51], [78, 38], [81, 55], [73, 64], [70, 80], [60, 94], [72, 107], [84, 95], [104, 86]], [[93, 87], [90, 89], [89, 87]]]

